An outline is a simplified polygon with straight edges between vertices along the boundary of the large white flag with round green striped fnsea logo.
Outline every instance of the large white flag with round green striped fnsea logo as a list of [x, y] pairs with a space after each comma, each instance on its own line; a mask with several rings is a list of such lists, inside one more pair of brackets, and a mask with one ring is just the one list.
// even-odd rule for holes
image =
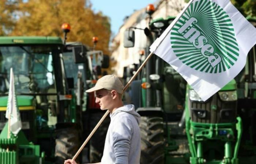
[[242, 70], [255, 43], [255, 27], [229, 0], [193, 0], [150, 51], [206, 101]]

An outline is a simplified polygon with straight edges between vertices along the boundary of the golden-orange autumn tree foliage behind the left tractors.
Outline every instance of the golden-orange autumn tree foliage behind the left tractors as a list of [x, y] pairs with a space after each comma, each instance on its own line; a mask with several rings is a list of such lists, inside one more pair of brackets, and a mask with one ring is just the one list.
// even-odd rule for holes
[[[9, 1], [13, 3], [7, 5]], [[97, 36], [96, 49], [108, 53], [110, 20], [101, 12], [94, 13], [85, 0], [1, 0], [0, 3], [0, 21], [4, 23], [0, 35], [63, 36], [61, 24], [69, 23], [67, 42], [93, 47], [92, 38]]]

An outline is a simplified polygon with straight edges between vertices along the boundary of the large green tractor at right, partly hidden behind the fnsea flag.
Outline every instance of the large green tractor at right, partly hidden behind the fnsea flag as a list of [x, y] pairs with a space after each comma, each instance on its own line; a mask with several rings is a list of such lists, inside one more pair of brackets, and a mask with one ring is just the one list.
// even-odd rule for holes
[[[146, 55], [173, 20], [155, 19], [144, 29]], [[125, 47], [134, 46], [131, 28], [124, 35]], [[132, 102], [143, 107], [136, 108], [142, 116], [141, 163], [255, 163], [255, 54], [253, 47], [240, 74], [205, 102], [169, 64], [152, 56], [144, 78], [131, 85]]]

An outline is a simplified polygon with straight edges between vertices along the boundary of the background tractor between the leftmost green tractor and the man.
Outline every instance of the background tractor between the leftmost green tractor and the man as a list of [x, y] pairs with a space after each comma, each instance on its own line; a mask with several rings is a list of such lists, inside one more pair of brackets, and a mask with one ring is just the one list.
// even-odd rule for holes
[[[102, 74], [102, 69], [109, 67], [109, 56], [103, 55], [102, 51], [91, 50], [90, 47], [79, 42], [67, 42], [63, 53], [65, 69], [67, 70], [67, 77], [78, 79], [76, 95], [82, 99], [80, 104], [83, 106], [83, 138], [85, 139], [89, 132], [93, 130], [100, 118], [105, 112], [100, 110], [98, 104], [95, 103], [94, 93], [81, 93], [81, 88], [87, 90], [95, 85], [98, 77]], [[99, 126], [91, 138], [87, 150], [89, 152], [90, 163], [99, 162], [103, 155], [105, 136], [108, 130], [110, 118], [107, 117]]]

